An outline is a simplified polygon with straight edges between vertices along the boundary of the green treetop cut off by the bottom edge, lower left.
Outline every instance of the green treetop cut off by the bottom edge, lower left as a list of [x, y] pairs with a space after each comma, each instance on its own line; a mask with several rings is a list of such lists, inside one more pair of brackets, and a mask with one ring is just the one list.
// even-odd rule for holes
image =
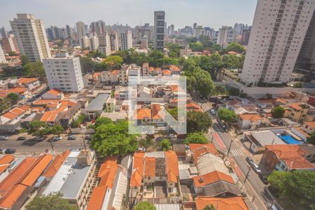
[[25, 207], [27, 210], [74, 210], [78, 209], [62, 198], [61, 193], [34, 197]]

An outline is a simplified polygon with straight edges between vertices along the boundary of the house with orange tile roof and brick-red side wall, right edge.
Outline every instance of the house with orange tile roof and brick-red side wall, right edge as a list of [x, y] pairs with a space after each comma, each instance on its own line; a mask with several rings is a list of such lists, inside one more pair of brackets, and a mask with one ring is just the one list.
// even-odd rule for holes
[[263, 165], [269, 170], [274, 169], [291, 172], [294, 170], [315, 171], [315, 166], [306, 160], [307, 153], [295, 144], [268, 145], [265, 146], [265, 152], [262, 155]]

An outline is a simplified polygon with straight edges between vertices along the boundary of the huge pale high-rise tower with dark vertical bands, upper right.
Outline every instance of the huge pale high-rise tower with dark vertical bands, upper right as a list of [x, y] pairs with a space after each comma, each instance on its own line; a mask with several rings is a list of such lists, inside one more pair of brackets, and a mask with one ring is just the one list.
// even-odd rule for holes
[[258, 1], [241, 81], [286, 83], [315, 8], [314, 0]]

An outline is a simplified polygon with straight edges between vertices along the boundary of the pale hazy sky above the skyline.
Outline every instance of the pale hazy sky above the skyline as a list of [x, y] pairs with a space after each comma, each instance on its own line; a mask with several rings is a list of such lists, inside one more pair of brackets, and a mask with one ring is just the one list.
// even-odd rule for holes
[[257, 0], [0, 0], [0, 27], [10, 29], [9, 20], [16, 13], [33, 13], [45, 27], [73, 26], [104, 20], [132, 27], [149, 22], [153, 11], [165, 10], [167, 25], [175, 29], [186, 25], [214, 27], [233, 26], [236, 22], [251, 25]]

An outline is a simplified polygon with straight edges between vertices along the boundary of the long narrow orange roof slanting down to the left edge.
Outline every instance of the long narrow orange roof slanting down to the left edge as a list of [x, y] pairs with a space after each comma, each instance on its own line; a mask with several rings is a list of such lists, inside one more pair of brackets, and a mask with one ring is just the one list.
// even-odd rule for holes
[[25, 176], [25, 173], [28, 172], [28, 169], [34, 166], [36, 158], [27, 157], [23, 160], [18, 167], [16, 167], [10, 174], [3, 179], [0, 183], [0, 196], [5, 195], [8, 190], [15, 186], [18, 181]]

